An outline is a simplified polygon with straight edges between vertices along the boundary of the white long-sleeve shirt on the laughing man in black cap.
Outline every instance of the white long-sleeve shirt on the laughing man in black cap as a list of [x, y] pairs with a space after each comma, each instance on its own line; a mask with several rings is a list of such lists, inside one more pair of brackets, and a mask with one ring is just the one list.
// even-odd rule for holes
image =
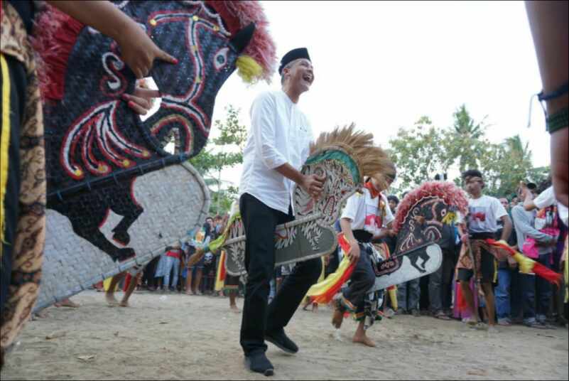
[[239, 194], [288, 213], [293, 181], [274, 168], [289, 163], [300, 170], [313, 140], [308, 118], [282, 90], [263, 92], [251, 106], [251, 128], [243, 151]]

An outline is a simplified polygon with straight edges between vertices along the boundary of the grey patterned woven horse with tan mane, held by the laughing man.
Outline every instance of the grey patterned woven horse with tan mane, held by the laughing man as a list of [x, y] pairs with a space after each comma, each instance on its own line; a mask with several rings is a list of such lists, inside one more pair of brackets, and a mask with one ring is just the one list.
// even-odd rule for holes
[[[275, 232], [276, 266], [330, 254], [337, 247], [333, 224], [340, 217], [343, 201], [362, 186], [364, 176], [389, 173], [390, 163], [386, 153], [374, 146], [373, 135], [356, 131], [353, 124], [321, 134], [310, 147], [301, 172], [326, 177], [322, 196], [315, 202], [296, 186], [296, 220], [279, 225]], [[245, 274], [245, 235], [239, 218], [228, 233], [222, 246], [227, 252], [227, 272]]]

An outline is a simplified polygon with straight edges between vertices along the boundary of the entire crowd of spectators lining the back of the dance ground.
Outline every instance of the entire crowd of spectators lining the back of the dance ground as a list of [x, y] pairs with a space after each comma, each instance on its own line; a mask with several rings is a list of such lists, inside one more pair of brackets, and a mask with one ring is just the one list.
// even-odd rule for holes
[[[403, 197], [405, 194], [403, 194]], [[389, 208], [393, 214], [399, 205], [396, 195], [389, 195]], [[567, 236], [567, 227], [562, 222], [554, 202], [551, 182], [536, 186], [529, 183], [520, 186], [515, 193], [499, 198], [504, 210], [511, 219], [514, 228], [508, 237], [508, 244], [524, 255], [535, 259], [556, 272], [562, 272], [563, 242]], [[566, 216], [565, 216], [566, 218]], [[205, 224], [195, 230], [190, 240], [182, 245], [167, 247], [165, 252], [154, 258], [139, 277], [137, 289], [159, 293], [179, 292], [188, 295], [222, 296], [221, 289], [215, 290], [215, 277], [220, 256], [207, 253], [192, 267], [186, 266], [188, 258], [197, 247], [207, 245], [222, 234], [227, 215], [208, 217]], [[502, 220], [498, 220], [499, 230], [496, 239], [502, 235]], [[340, 231], [339, 224], [336, 224]], [[394, 252], [396, 237], [388, 236], [382, 240]], [[394, 311], [389, 298], [385, 299], [381, 313], [388, 318], [396, 315], [433, 316], [442, 320], [465, 319], [465, 313], [458, 311], [456, 265], [462, 241], [455, 225], [445, 225], [443, 237], [438, 242], [443, 250], [443, 264], [438, 271], [426, 277], [413, 279], [397, 286], [397, 308]], [[337, 269], [340, 263], [340, 251], [323, 258], [325, 276]], [[495, 320], [500, 326], [524, 324], [531, 328], [555, 328], [567, 323], [567, 305], [563, 303], [564, 288], [557, 289], [534, 274], [521, 274], [514, 261], [495, 263], [492, 282]], [[294, 264], [276, 267], [271, 281], [271, 300]], [[239, 282], [239, 294], [244, 287]], [[479, 316], [488, 320], [485, 312], [484, 292], [479, 289], [476, 302]], [[305, 305], [305, 308], [308, 304]], [[315, 309], [315, 306], [313, 306]]]

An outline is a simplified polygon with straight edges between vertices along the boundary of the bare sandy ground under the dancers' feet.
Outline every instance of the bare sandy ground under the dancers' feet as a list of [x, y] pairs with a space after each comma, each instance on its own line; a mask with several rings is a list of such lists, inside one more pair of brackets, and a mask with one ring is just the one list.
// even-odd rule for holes
[[[2, 380], [265, 379], [244, 368], [241, 314], [229, 311], [228, 299], [143, 291], [130, 308], [110, 308], [95, 291], [72, 299], [82, 306], [50, 307], [47, 318], [28, 323]], [[269, 344], [273, 379], [569, 379], [565, 328], [490, 335], [458, 321], [396, 316], [370, 329], [377, 348], [352, 343], [354, 329], [345, 321], [339, 342], [327, 307], [299, 309], [287, 332], [300, 352]]]

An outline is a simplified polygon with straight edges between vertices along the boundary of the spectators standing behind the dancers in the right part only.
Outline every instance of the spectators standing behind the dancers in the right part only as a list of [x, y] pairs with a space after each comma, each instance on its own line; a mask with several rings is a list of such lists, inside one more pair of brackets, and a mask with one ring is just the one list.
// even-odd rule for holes
[[[399, 199], [390, 195], [389, 205], [393, 213]], [[553, 195], [551, 181], [539, 186], [529, 183], [507, 196], [499, 198], [514, 229], [508, 244], [527, 257], [540, 262], [554, 271], [563, 272], [562, 254], [567, 236], [567, 227], [562, 221]], [[566, 219], [566, 216], [564, 217]], [[565, 221], [566, 222], [566, 221]], [[496, 240], [502, 235], [502, 221]], [[392, 242], [386, 242], [393, 248]], [[455, 267], [461, 246], [456, 226], [448, 225], [443, 230], [443, 239], [438, 242], [443, 249], [443, 264], [437, 272], [426, 277], [399, 284], [396, 314], [413, 316], [428, 315], [443, 320], [465, 318], [458, 311]], [[521, 274], [518, 264], [512, 261], [496, 263], [492, 286], [496, 306], [496, 321], [499, 326], [524, 324], [531, 328], [555, 328], [567, 324], [567, 304], [563, 303], [564, 288], [559, 289], [535, 274]], [[488, 320], [484, 311], [484, 297], [479, 289], [477, 307], [480, 316]]]

